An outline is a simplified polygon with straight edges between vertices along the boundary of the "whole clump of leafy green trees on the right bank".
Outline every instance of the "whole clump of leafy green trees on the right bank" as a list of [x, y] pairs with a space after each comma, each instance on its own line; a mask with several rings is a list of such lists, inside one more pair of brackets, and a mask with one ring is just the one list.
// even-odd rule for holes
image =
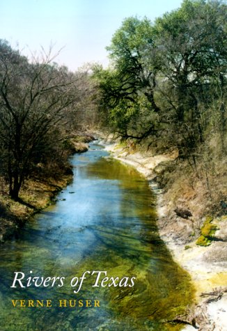
[[[185, 0], [155, 24], [123, 22], [107, 47], [112, 67], [95, 73], [112, 129], [125, 138], [163, 137], [195, 162], [196, 146], [219, 118], [224, 146], [226, 9], [222, 1]], [[209, 110], [214, 104], [218, 116]]]

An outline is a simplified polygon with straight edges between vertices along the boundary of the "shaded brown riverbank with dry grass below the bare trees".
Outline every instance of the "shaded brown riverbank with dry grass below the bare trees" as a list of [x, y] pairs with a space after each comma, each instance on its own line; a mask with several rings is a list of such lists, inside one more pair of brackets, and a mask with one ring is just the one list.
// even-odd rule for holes
[[[94, 139], [93, 135], [89, 133], [75, 134], [75, 137], [69, 139], [65, 144], [65, 151], [68, 156], [84, 153], [88, 151], [88, 143]], [[54, 203], [56, 194], [72, 181], [72, 176], [72, 167], [68, 163], [64, 165], [58, 176], [29, 178], [19, 192], [18, 201], [10, 198], [8, 187], [1, 180], [0, 243], [15, 236], [30, 217]]]

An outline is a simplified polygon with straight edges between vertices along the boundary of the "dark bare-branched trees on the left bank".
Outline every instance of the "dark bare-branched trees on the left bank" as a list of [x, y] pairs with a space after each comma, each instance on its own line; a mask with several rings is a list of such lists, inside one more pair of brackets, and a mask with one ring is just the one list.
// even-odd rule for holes
[[56, 157], [65, 130], [61, 125], [70, 121], [79, 98], [77, 77], [51, 61], [46, 54], [29, 63], [0, 40], [1, 174], [13, 199], [39, 162]]

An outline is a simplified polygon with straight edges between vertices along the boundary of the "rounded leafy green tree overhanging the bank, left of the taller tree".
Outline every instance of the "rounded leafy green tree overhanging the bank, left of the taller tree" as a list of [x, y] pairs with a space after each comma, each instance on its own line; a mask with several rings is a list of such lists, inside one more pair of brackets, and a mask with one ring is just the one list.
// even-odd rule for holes
[[[141, 116], [148, 119], [151, 112], [159, 112], [154, 97], [157, 70], [154, 63], [148, 61], [153, 46], [150, 21], [130, 17], [107, 47], [112, 68], [96, 71], [96, 77], [100, 79], [102, 108], [107, 110], [114, 129], [125, 138], [143, 139], [154, 132], [154, 123], [144, 125], [143, 121], [141, 125]], [[141, 104], [143, 111], [139, 107]]]

